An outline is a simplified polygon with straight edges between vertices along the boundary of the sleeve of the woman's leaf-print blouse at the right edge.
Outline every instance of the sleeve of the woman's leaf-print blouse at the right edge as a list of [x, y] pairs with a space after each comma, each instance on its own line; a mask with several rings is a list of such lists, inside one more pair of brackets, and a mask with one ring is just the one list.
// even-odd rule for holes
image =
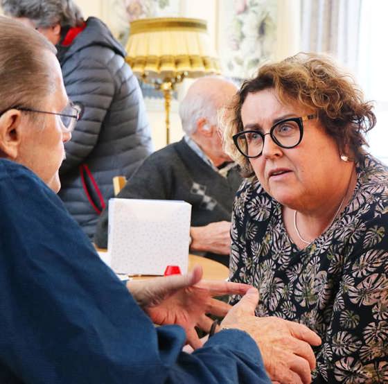
[[317, 356], [329, 383], [388, 382], [388, 214], [358, 228], [360, 238], [359, 229], [348, 236], [349, 256]]

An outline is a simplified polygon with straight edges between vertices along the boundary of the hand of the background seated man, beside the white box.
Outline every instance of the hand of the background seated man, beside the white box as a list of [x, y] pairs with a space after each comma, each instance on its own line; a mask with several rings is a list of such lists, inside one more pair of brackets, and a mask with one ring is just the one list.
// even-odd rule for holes
[[231, 245], [230, 228], [231, 223], [229, 221], [217, 221], [203, 227], [191, 227], [191, 250], [229, 254]]

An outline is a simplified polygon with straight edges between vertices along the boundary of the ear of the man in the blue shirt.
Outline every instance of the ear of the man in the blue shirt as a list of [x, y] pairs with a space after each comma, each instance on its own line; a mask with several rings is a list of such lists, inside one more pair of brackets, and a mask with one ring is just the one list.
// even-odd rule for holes
[[11, 160], [19, 155], [21, 112], [8, 110], [0, 116], [0, 154]]

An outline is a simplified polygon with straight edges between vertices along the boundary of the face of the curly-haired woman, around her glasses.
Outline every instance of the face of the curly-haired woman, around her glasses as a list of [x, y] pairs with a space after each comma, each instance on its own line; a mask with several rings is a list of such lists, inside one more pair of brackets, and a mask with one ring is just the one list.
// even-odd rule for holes
[[[265, 134], [277, 121], [313, 113], [296, 103], [283, 104], [274, 89], [265, 89], [248, 94], [241, 119], [244, 130]], [[314, 209], [324, 201], [340, 181], [344, 163], [319, 119], [303, 122], [303, 139], [294, 148], [277, 146], [267, 134], [261, 156], [250, 162], [265, 191], [292, 209]]]

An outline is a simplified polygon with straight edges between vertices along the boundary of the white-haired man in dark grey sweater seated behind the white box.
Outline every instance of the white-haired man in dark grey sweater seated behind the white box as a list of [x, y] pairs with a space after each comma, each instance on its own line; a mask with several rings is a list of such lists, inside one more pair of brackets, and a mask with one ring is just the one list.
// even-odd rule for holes
[[[189, 202], [191, 252], [224, 265], [229, 265], [231, 209], [241, 177], [222, 150], [217, 111], [236, 91], [221, 78], [196, 80], [179, 107], [184, 138], [145, 159], [117, 195]], [[98, 247], [107, 247], [107, 220], [105, 209], [94, 237]]]

